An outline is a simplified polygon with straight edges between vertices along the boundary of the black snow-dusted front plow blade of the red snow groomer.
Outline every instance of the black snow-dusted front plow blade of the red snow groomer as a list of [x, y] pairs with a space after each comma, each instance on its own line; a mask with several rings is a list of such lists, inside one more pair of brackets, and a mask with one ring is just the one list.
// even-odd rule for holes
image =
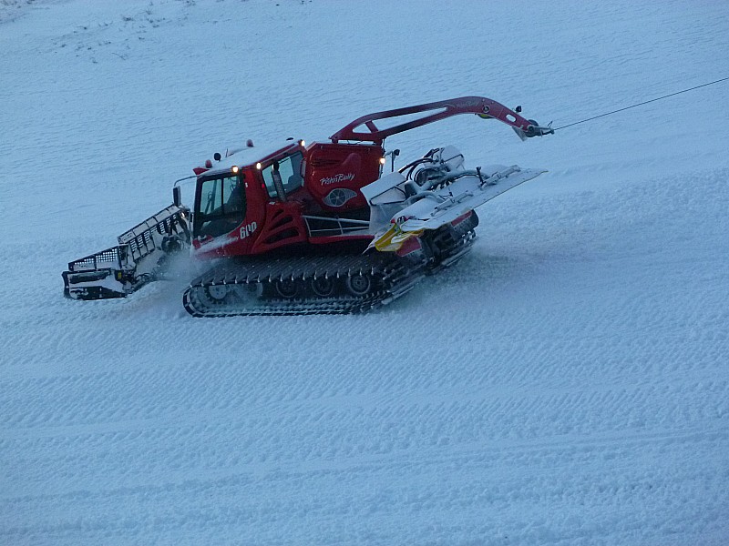
[[118, 246], [68, 263], [63, 294], [71, 299], [125, 298], [164, 278], [172, 254], [190, 248], [190, 209], [170, 205], [118, 237]]

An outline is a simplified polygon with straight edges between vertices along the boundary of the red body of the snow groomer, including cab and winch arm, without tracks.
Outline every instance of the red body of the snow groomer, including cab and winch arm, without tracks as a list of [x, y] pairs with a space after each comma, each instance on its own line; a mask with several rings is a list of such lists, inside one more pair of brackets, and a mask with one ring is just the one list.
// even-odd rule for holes
[[[382, 174], [385, 137], [457, 114], [497, 118], [522, 137], [539, 134], [539, 126], [516, 111], [466, 96], [363, 116], [334, 133], [331, 142], [308, 147], [291, 140], [259, 148], [249, 141], [196, 169], [195, 255], [249, 256], [304, 243], [371, 239], [369, 207], [360, 190]], [[383, 129], [375, 125], [401, 116], [409, 117]]]

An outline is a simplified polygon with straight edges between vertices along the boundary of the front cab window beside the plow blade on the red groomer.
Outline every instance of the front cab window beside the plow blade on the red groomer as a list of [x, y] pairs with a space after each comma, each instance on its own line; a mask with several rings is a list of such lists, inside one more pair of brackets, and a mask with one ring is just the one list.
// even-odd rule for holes
[[241, 176], [199, 182], [194, 235], [218, 237], [238, 227], [245, 217], [245, 184]]

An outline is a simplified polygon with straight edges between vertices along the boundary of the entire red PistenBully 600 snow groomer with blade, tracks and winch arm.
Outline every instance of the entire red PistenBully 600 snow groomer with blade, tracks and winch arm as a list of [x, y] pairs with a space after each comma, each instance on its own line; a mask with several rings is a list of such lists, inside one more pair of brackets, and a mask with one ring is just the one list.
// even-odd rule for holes
[[[467, 252], [474, 208], [543, 171], [469, 169], [452, 146], [395, 171], [399, 150], [386, 153], [385, 138], [458, 114], [497, 119], [522, 139], [551, 132], [519, 111], [466, 96], [362, 116], [328, 142], [249, 140], [194, 169], [191, 215], [176, 187], [174, 204], [121, 236], [119, 247], [71, 262], [66, 295], [126, 296], [162, 278], [168, 254], [191, 247], [194, 258], [210, 260], [183, 295], [193, 316], [346, 313], [391, 301]], [[393, 172], [382, 176], [388, 157]], [[99, 266], [112, 251], [126, 261]]]

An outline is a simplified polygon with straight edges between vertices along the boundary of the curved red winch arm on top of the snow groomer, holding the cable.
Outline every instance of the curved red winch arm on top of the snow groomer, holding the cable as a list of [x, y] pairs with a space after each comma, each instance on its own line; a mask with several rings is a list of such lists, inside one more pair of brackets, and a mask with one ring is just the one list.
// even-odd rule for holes
[[[387, 136], [396, 135], [419, 126], [446, 119], [459, 114], [476, 114], [484, 119], [498, 119], [511, 126], [519, 137], [524, 140], [531, 136], [543, 136], [553, 133], [551, 127], [539, 126], [533, 119], [527, 119], [519, 115], [520, 107], [514, 111], [495, 100], [483, 96], [461, 96], [449, 100], [441, 100], [425, 105], [406, 106], [395, 110], [375, 112], [366, 116], [358, 117], [348, 125], [342, 127], [334, 135], [330, 136], [332, 142], [340, 140], [352, 140], [358, 142], [373, 142], [381, 145]], [[413, 118], [413, 115], [423, 113], [421, 117]], [[388, 126], [380, 129], [375, 125], [376, 120], [391, 119], [399, 116], [409, 116], [395, 126]]]

